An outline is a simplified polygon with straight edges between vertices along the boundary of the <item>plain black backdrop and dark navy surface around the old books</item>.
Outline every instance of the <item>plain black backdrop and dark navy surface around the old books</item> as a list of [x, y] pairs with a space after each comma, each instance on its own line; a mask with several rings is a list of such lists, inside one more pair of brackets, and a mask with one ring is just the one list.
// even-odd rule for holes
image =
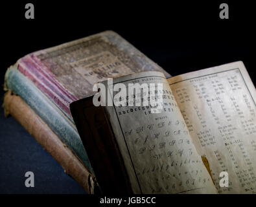
[[[25, 19], [26, 3], [34, 4], [35, 19]], [[220, 3], [229, 5], [229, 19], [220, 19]], [[104, 30], [119, 33], [172, 76], [242, 60], [255, 83], [249, 1], [8, 1], [0, 13], [2, 84], [22, 56]], [[3, 109], [0, 122], [0, 193], [84, 193]], [[25, 187], [26, 171], [34, 171], [35, 188]]]

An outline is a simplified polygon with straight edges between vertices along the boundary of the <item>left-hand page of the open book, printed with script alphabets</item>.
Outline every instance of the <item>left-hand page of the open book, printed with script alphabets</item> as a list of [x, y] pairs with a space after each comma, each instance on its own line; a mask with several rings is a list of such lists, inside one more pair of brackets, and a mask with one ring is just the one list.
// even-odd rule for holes
[[109, 84], [108, 91], [118, 83], [126, 89], [128, 83], [163, 87], [155, 90], [157, 98], [163, 98], [159, 111], [154, 111], [156, 105], [106, 107], [134, 193], [216, 193], [165, 76], [161, 72], [123, 76]]

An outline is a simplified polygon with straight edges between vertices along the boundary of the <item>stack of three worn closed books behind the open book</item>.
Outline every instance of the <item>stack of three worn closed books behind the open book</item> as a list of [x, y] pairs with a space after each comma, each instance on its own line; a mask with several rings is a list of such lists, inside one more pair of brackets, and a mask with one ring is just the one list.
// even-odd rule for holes
[[70, 103], [93, 95], [93, 85], [156, 63], [112, 31], [28, 54], [5, 75], [5, 114], [11, 114], [88, 193], [97, 180], [75, 127]]

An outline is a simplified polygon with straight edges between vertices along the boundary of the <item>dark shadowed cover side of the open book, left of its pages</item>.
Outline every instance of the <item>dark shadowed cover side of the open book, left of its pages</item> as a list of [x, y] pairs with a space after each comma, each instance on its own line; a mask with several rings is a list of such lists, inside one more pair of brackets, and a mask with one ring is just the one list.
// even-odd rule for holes
[[105, 107], [95, 107], [91, 96], [71, 103], [70, 109], [102, 192], [131, 194], [130, 180]]

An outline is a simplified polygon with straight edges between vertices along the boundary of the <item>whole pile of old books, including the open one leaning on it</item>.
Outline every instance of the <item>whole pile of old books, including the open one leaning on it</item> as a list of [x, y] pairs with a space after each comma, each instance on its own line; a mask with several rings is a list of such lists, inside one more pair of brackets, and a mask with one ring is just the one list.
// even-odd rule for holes
[[242, 61], [170, 77], [107, 31], [21, 58], [5, 90], [5, 113], [88, 193], [256, 193], [256, 90]]

